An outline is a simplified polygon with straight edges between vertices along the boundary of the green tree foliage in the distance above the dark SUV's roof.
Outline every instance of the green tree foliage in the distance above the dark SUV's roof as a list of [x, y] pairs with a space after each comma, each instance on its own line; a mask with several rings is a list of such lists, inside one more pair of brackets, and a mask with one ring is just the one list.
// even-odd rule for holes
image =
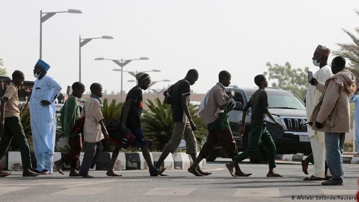
[[268, 76], [268, 80], [272, 81], [272, 87], [278, 87], [283, 90], [288, 90], [302, 100], [305, 99], [308, 87], [308, 71], [309, 68], [292, 68], [289, 62], [284, 66], [267, 63], [268, 71], [264, 75]]

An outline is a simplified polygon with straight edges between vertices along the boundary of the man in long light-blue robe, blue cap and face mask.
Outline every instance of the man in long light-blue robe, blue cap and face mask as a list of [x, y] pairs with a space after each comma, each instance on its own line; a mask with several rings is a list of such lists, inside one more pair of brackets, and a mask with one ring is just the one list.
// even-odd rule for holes
[[39, 59], [34, 67], [35, 84], [30, 100], [30, 123], [34, 153], [40, 174], [52, 174], [52, 159], [55, 148], [56, 110], [54, 100], [61, 86], [47, 75], [49, 64]]

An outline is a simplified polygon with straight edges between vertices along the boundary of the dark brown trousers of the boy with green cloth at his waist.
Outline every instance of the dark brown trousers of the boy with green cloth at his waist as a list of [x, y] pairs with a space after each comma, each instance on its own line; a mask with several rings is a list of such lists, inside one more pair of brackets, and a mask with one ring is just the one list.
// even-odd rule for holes
[[203, 145], [200, 155], [207, 157], [218, 143], [222, 145], [228, 158], [238, 155], [231, 129], [209, 131], [207, 142]]

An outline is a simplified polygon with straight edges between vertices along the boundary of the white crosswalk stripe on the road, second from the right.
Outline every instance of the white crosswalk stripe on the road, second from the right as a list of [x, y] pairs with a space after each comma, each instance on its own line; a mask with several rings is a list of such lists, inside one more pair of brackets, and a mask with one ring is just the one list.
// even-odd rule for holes
[[244, 188], [237, 189], [234, 196], [242, 197], [279, 197], [279, 189]]

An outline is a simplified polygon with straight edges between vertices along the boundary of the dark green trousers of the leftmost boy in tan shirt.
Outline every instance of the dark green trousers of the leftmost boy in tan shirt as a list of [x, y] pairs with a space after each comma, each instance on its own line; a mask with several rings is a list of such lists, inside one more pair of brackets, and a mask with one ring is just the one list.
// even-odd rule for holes
[[30, 148], [23, 125], [19, 117], [6, 117], [4, 133], [0, 139], [0, 158], [4, 157], [9, 149], [12, 138], [15, 139], [17, 147], [20, 149], [23, 169], [31, 168]]

